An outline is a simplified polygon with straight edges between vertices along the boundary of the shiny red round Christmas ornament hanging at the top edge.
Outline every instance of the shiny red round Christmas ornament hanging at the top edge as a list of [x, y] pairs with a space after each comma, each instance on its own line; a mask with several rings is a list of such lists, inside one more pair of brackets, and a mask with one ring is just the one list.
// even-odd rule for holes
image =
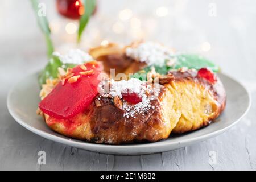
[[80, 0], [57, 0], [57, 10], [66, 18], [79, 19], [84, 14], [84, 5]]

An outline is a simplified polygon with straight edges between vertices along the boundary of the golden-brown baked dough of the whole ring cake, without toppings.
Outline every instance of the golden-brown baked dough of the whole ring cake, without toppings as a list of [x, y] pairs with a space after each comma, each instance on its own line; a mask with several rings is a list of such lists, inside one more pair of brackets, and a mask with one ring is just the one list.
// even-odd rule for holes
[[[125, 56], [117, 44], [91, 49], [90, 54], [104, 63], [105, 72], [137, 72], [145, 66]], [[44, 115], [46, 124], [57, 133], [89, 142], [119, 144], [166, 139], [171, 133], [185, 133], [209, 125], [225, 108], [226, 94], [219, 78], [215, 84], [197, 77], [197, 72], [172, 71], [159, 77], [161, 92], [154, 106], [135, 118], [124, 117], [120, 98], [102, 98], [88, 110], [68, 120]], [[144, 114], [144, 115], [142, 115]]]

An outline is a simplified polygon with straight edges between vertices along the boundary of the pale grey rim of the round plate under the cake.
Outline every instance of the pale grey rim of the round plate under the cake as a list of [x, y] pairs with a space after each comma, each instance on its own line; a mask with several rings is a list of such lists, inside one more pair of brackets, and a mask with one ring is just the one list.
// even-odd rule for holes
[[[26, 75], [26, 77], [35, 75], [36, 73], [38, 73], [38, 72], [32, 73], [30, 75]], [[160, 143], [160, 142], [151, 142], [151, 143], [143, 143], [143, 144], [129, 144], [129, 145], [124, 145], [124, 144], [122, 144], [122, 145], [97, 144], [97, 143], [90, 143], [90, 142], [86, 142], [86, 141], [82, 141], [82, 140], [80, 141], [80, 140], [76, 140], [76, 139], [72, 139], [72, 138], [68, 139], [68, 137], [66, 139], [66, 138], [59, 137], [57, 135], [49, 134], [46, 131], [36, 129], [35, 127], [32, 127], [32, 126], [28, 125], [26, 122], [22, 121], [22, 119], [20, 119], [15, 114], [15, 112], [10, 108], [11, 94], [14, 92], [14, 88], [17, 85], [17, 82], [12, 86], [12, 88], [9, 90], [9, 93], [7, 95], [7, 109], [9, 110], [9, 113], [14, 118], [14, 120], [16, 122], [18, 122], [20, 125], [22, 125], [23, 127], [25, 127], [27, 130], [31, 131], [32, 133], [35, 133], [35, 134], [39, 135], [40, 137], [47, 138], [47, 139], [52, 140], [54, 142], [59, 142], [59, 143], [67, 144], [69, 146], [82, 148], [83, 150], [100, 152], [100, 153], [104, 153], [104, 154], [117, 154], [117, 155], [154, 154], [154, 153], [159, 153], [159, 152], [176, 150], [177, 148], [181, 148], [181, 147], [184, 147], [184, 146], [190, 146], [191, 144], [201, 142], [203, 140], [207, 140], [207, 139], [212, 138], [212, 137], [216, 137], [217, 135], [220, 135], [220, 134], [224, 133], [226, 130], [232, 128], [239, 121], [241, 121], [241, 119], [243, 117], [245, 117], [245, 115], [247, 114], [247, 112], [249, 111], [249, 109], [251, 107], [251, 94], [250, 94], [249, 90], [246, 88], [245, 85], [243, 85], [241, 83], [241, 81], [236, 80], [232, 76], [229, 76], [225, 73], [218, 73], [218, 74], [221, 74], [221, 75], [224, 75], [224, 76], [230, 78], [231, 80], [235, 81], [237, 84], [240, 84], [243, 89], [245, 89], [246, 94], [249, 98], [249, 103], [248, 103], [247, 108], [244, 111], [244, 113], [240, 116], [240, 118], [236, 119], [236, 121], [232, 122], [230, 125], [222, 128], [220, 130], [216, 130], [216, 131], [213, 131], [211, 133], [207, 133], [207, 134], [197, 136], [197, 137], [184, 139], [180, 142], [176, 141], [176, 142], [171, 143], [171, 144]], [[21, 78], [21, 80], [22, 79], [24, 79], [24, 77]], [[135, 146], [136, 146], [136, 149], [134, 149], [133, 152], [126, 151], [128, 148], [131, 149]], [[176, 146], [176, 147], [172, 147], [172, 146]], [[161, 149], [158, 148], [159, 150], [155, 150], [155, 147], [161, 147]], [[153, 150], [153, 148], [154, 148], [154, 150]], [[145, 149], [147, 149], [147, 151], [143, 151]]]

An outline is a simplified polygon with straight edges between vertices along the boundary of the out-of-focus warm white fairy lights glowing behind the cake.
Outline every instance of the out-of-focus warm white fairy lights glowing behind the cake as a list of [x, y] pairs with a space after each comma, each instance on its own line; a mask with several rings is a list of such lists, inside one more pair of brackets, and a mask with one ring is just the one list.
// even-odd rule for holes
[[[160, 19], [167, 18], [171, 13], [170, 7], [168, 6], [156, 7], [154, 11], [152, 11], [151, 18], [140, 16], [134, 13], [132, 9], [120, 10], [115, 13], [117, 16], [114, 19], [106, 18], [105, 14], [97, 12], [85, 30], [80, 47], [89, 48], [91, 46], [97, 46], [98, 44], [104, 46], [112, 42], [113, 38], [121, 39], [120, 42], [122, 42], [122, 38], [126, 40], [129, 39], [130, 42], [132, 40], [147, 39], [148, 34], [155, 34]], [[57, 36], [62, 35], [61, 37], [66, 40], [69, 46], [73, 44], [77, 47], [75, 42], [76, 32], [79, 26], [78, 21], [57, 19], [51, 20], [49, 25], [52, 34], [56, 34]], [[63, 40], [61, 41], [63, 42]], [[61, 47], [64, 46], [61, 45]], [[211, 45], [207, 40], [203, 40], [198, 46], [198, 49], [202, 52], [208, 52], [211, 49]]]

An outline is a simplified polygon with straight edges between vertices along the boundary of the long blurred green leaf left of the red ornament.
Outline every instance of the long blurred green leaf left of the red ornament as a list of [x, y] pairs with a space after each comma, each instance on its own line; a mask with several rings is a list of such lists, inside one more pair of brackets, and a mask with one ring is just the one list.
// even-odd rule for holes
[[[40, 29], [42, 30], [44, 37], [46, 38], [46, 44], [47, 44], [47, 55], [48, 57], [52, 56], [52, 53], [54, 51], [53, 43], [51, 40], [51, 30], [49, 28], [49, 23], [44, 15], [40, 15], [40, 11], [42, 11], [42, 6], [40, 6], [40, 3], [38, 0], [30, 0], [32, 3], [32, 7], [36, 14], [36, 19], [38, 21], [38, 25]], [[42, 4], [43, 5], [43, 4]]]

